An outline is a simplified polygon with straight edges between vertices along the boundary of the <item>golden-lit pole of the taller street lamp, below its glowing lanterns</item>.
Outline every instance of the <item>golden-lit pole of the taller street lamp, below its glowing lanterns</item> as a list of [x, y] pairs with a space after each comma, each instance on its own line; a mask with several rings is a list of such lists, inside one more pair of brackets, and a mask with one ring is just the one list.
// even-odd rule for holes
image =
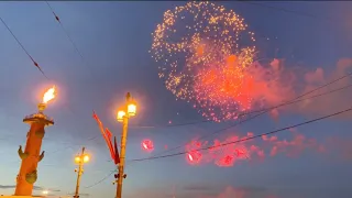
[[124, 158], [125, 158], [125, 144], [128, 141], [128, 125], [129, 117], [123, 117], [122, 123], [122, 134], [121, 134], [121, 152], [120, 152], [120, 163], [119, 163], [119, 174], [118, 174], [118, 188], [117, 188], [117, 198], [122, 197], [122, 180], [124, 178]]

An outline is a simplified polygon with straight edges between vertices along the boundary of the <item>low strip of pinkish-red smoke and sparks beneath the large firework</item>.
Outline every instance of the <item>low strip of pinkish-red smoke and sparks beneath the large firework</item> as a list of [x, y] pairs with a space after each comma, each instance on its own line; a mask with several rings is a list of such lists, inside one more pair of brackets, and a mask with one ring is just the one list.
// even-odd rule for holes
[[[220, 167], [230, 167], [240, 161], [248, 160], [263, 160], [265, 155], [275, 156], [279, 153], [287, 156], [296, 156], [305, 150], [315, 150], [323, 152], [324, 147], [317, 143], [316, 140], [307, 139], [302, 134], [290, 130], [294, 138], [290, 141], [278, 140], [277, 136], [262, 136], [264, 141], [261, 145], [255, 145], [254, 140], [245, 140], [253, 136], [253, 133], [249, 132], [245, 136], [230, 136], [224, 141], [215, 140], [213, 144], [209, 144], [207, 141], [191, 141], [186, 145], [186, 156], [191, 165], [198, 165], [200, 163], [215, 163]], [[239, 143], [231, 143], [245, 140]], [[207, 150], [201, 150], [209, 147]], [[265, 154], [267, 153], [267, 154]]]

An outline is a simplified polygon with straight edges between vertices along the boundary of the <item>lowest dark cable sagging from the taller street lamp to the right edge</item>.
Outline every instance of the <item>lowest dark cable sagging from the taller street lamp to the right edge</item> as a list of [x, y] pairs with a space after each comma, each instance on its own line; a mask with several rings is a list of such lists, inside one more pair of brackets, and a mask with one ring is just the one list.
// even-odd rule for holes
[[[320, 121], [320, 120], [323, 120], [323, 119], [336, 117], [338, 114], [342, 114], [342, 113], [345, 113], [345, 112], [349, 112], [349, 111], [352, 111], [352, 108], [349, 108], [349, 109], [345, 109], [345, 110], [342, 110], [342, 111], [338, 111], [338, 112], [334, 112], [334, 113], [331, 113], [331, 114], [328, 114], [328, 116], [324, 116], [324, 117], [320, 117], [320, 118], [317, 118], [317, 119], [308, 120], [306, 122], [300, 122], [300, 123], [297, 123], [297, 124], [294, 124], [294, 125], [282, 128], [282, 129], [278, 129], [278, 130], [275, 130], [275, 131], [271, 131], [271, 132], [267, 132], [267, 133], [262, 133], [262, 134], [258, 134], [258, 135], [241, 139], [239, 141], [232, 141], [232, 142], [228, 142], [228, 143], [222, 143], [220, 145], [201, 147], [201, 148], [194, 150], [194, 151], [204, 151], [204, 150], [209, 150], [209, 148], [213, 148], [213, 147], [222, 147], [222, 146], [230, 145], [230, 144], [235, 144], [235, 143], [250, 141], [252, 139], [257, 139], [257, 138], [262, 138], [263, 135], [270, 135], [270, 134], [278, 133], [278, 132], [286, 131], [286, 130], [289, 130], [289, 129], [293, 129], [293, 128], [301, 127], [301, 125], [305, 125], [305, 124], [308, 124], [308, 123], [312, 123], [312, 122], [317, 122], [317, 121]], [[134, 162], [142, 162], [142, 161], [172, 157], [172, 156], [183, 155], [183, 154], [187, 154], [187, 153], [188, 152], [179, 152], [179, 153], [174, 153], [174, 154], [169, 154], [169, 155], [162, 155], [162, 156], [155, 156], [155, 157], [145, 157], [145, 158], [139, 158], [139, 160], [133, 160], [133, 161]]]

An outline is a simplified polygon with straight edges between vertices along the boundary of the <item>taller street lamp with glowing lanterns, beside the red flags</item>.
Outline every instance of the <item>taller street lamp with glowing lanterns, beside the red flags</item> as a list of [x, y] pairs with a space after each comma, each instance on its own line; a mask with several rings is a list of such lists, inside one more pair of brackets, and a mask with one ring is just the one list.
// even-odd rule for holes
[[124, 158], [125, 158], [125, 145], [128, 141], [128, 127], [129, 127], [129, 119], [134, 117], [136, 113], [136, 103], [132, 99], [131, 94], [128, 92], [125, 96], [125, 106], [118, 111], [117, 120], [122, 122], [122, 134], [121, 134], [121, 152], [120, 152], [120, 163], [118, 165], [118, 175], [117, 177], [117, 197], [122, 197], [122, 182], [127, 177], [123, 173], [124, 170]]

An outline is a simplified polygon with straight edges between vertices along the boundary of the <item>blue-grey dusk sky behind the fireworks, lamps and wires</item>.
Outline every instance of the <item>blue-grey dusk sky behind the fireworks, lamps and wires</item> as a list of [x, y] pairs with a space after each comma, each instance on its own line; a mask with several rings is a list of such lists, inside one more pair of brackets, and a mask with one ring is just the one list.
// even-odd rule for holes
[[[51, 2], [82, 58], [45, 1], [0, 3], [0, 16], [51, 78], [48, 81], [40, 73], [1, 23], [0, 195], [14, 191], [20, 168], [16, 152], [19, 145], [25, 145], [29, 131], [22, 119], [36, 112], [41, 92], [52, 85], [57, 86], [58, 95], [48, 105], [46, 114], [54, 118], [55, 124], [46, 129], [42, 146], [46, 155], [38, 164], [35, 186], [55, 195], [74, 193], [74, 157], [86, 146], [91, 161], [85, 165], [81, 197], [114, 197], [112, 175], [95, 185], [116, 166], [109, 162], [109, 151], [92, 119], [92, 110], [120, 140], [122, 128], [114, 113], [128, 91], [139, 103], [138, 116], [131, 119], [129, 128], [128, 161], [164, 152], [165, 145], [169, 148], [184, 145], [232, 123], [162, 128], [169, 121], [182, 124], [204, 120], [191, 105], [176, 101], [165, 88], [157, 76], [158, 65], [148, 53], [151, 33], [162, 22], [163, 13], [184, 3]], [[322, 68], [324, 80], [342, 76], [337, 68], [352, 67], [352, 2], [217, 3], [245, 19], [249, 29], [257, 35], [262, 57], [285, 59], [287, 67], [299, 66], [307, 74]], [[345, 81], [350, 82], [349, 78]], [[265, 114], [208, 141], [248, 132], [261, 134], [351, 107], [351, 89], [334, 95], [339, 97], [321, 99], [306, 111], [287, 109], [277, 119]], [[165, 198], [173, 194], [179, 198], [351, 198], [351, 118], [350, 113], [295, 129], [323, 145], [324, 152], [307, 148], [294, 157], [285, 153], [267, 154], [263, 161], [241, 161], [231, 167], [215, 163], [193, 166], [185, 155], [128, 162], [123, 195], [127, 198]], [[290, 141], [293, 135], [286, 131], [278, 138]], [[153, 153], [142, 151], [144, 139], [153, 140]], [[184, 147], [174, 152], [183, 152]]]

